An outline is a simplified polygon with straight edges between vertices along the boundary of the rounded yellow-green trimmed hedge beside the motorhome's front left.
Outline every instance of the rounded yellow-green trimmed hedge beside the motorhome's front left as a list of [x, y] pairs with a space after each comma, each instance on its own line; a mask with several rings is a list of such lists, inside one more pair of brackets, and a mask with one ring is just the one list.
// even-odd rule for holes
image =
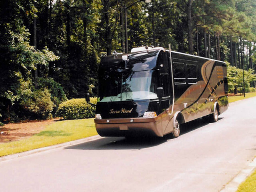
[[[96, 104], [97, 98], [90, 98], [91, 103]], [[95, 106], [88, 104], [84, 98], [71, 99], [59, 105], [57, 116], [64, 119], [84, 119], [94, 117]]]

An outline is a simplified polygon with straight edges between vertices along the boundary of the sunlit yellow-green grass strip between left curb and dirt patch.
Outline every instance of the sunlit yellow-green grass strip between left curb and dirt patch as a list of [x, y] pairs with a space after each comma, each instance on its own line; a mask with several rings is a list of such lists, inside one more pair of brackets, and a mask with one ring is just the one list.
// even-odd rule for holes
[[94, 118], [54, 122], [34, 136], [0, 144], [0, 156], [97, 135]]

